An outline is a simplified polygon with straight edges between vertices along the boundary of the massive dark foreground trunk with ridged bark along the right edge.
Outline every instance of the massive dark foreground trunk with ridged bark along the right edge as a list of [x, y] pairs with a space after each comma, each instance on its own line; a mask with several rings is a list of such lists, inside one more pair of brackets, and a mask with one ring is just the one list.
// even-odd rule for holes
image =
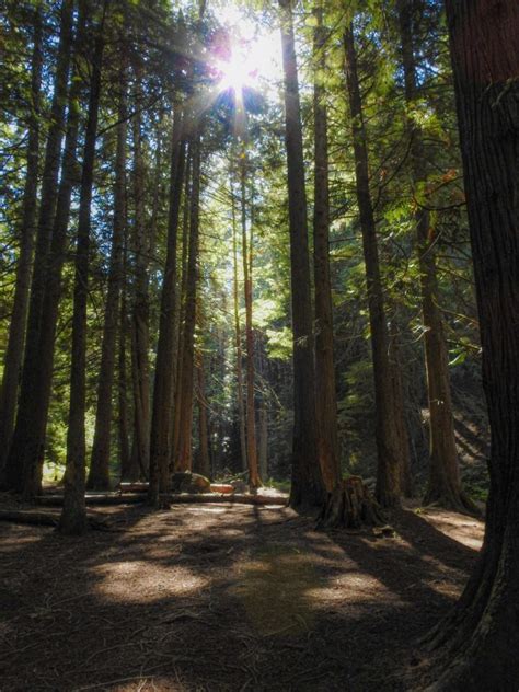
[[431, 690], [519, 685], [519, 5], [447, 1], [492, 431], [478, 564], [434, 643]]

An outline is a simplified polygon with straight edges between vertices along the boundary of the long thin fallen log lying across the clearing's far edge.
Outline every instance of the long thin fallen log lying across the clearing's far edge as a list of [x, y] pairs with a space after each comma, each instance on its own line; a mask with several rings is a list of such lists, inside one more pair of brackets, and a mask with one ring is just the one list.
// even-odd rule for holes
[[[147, 496], [141, 493], [130, 495], [124, 494], [96, 494], [85, 496], [86, 505], [90, 507], [108, 507], [117, 505], [139, 505], [147, 501]], [[222, 493], [182, 493], [161, 496], [161, 505], [166, 504], [212, 504], [226, 503], [228, 505], [275, 505], [284, 507], [287, 504], [286, 497], [268, 496], [268, 495], [227, 495]], [[62, 495], [41, 495], [37, 504], [43, 507], [61, 507], [64, 504]]]

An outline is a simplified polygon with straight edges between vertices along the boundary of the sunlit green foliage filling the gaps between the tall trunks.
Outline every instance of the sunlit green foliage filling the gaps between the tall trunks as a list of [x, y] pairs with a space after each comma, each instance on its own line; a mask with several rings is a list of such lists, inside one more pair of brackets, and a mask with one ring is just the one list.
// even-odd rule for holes
[[[5, 3], [4, 3], [5, 4]], [[0, 105], [0, 357], [7, 345], [13, 300], [14, 272], [20, 253], [19, 219], [23, 195], [28, 51], [32, 3], [7, 3], [1, 20], [2, 90]], [[277, 32], [277, 4], [215, 2], [199, 18], [199, 3], [130, 0], [109, 3], [106, 26], [106, 57], [103, 64], [102, 108], [95, 171], [93, 242], [89, 301], [88, 419], [90, 448], [93, 436], [97, 370], [101, 357], [103, 310], [106, 299], [108, 257], [114, 206], [115, 132], [117, 97], [123, 59], [132, 65], [130, 92], [138, 82], [141, 102], [130, 103], [127, 137], [129, 235], [135, 223], [131, 175], [131, 115], [142, 114], [142, 153], [146, 177], [145, 215], [149, 230], [155, 223], [155, 242], [150, 257], [150, 361], [154, 364], [158, 341], [159, 297], [165, 260], [169, 211], [170, 147], [172, 109], [175, 99], [186, 99], [204, 113], [200, 287], [196, 348], [206, 368], [206, 397], [212, 430], [212, 455], [217, 464], [237, 465], [237, 348], [233, 319], [232, 199], [234, 224], [240, 227], [237, 178], [235, 102], [231, 93], [218, 94], [215, 60], [218, 50], [233, 38], [219, 12], [235, 5], [242, 31], [252, 36]], [[48, 128], [48, 99], [56, 60], [57, 18], [53, 3], [44, 2], [45, 74], [42, 90], [42, 141]], [[480, 347], [473, 295], [471, 254], [464, 211], [464, 193], [458, 153], [458, 134], [446, 27], [439, 3], [425, 3], [417, 20], [420, 94], [411, 108], [403, 99], [399, 30], [395, 3], [326, 2], [324, 23], [327, 70], [319, 79], [326, 90], [330, 139], [331, 264], [335, 320], [338, 423], [344, 469], [371, 474], [374, 465], [373, 385], [369, 347], [369, 320], [361, 237], [356, 206], [355, 164], [343, 72], [342, 34], [354, 22], [359, 49], [365, 123], [369, 143], [370, 185], [376, 205], [381, 273], [389, 305], [389, 319], [402, 344], [402, 369], [407, 401], [407, 420], [418, 471], [427, 457], [422, 411], [426, 405], [423, 366], [424, 325], [420, 314], [420, 275], [416, 260], [415, 211], [430, 209], [430, 231], [437, 252], [439, 302], [445, 309], [450, 367], [471, 368], [478, 378]], [[183, 11], [180, 20], [176, 10]], [[313, 5], [295, 4], [300, 67], [300, 96], [304, 123], [307, 184], [312, 219], [313, 132], [312, 99], [314, 65], [311, 58], [314, 27]], [[28, 12], [28, 14], [27, 14]], [[249, 24], [247, 24], [249, 23]], [[229, 35], [231, 32], [231, 35]], [[178, 38], [182, 37], [182, 41]], [[238, 38], [244, 41], [243, 38]], [[251, 43], [253, 38], [250, 39]], [[220, 43], [219, 43], [220, 42]], [[274, 45], [268, 44], [269, 46]], [[270, 49], [270, 48], [269, 48]], [[125, 53], [126, 51], [126, 53]], [[124, 56], [124, 58], [123, 58]], [[281, 108], [281, 65], [278, 73], [262, 78], [245, 89], [244, 107], [247, 152], [247, 230], [253, 235], [253, 323], [256, 338], [256, 395], [268, 408], [269, 461], [276, 477], [288, 476], [292, 422], [289, 238], [287, 215], [287, 170]], [[85, 67], [83, 65], [83, 67]], [[135, 70], [139, 68], [139, 77]], [[200, 97], [200, 94], [204, 97]], [[209, 95], [208, 95], [209, 94]], [[212, 94], [212, 96], [211, 96]], [[210, 97], [211, 96], [211, 97]], [[84, 131], [85, 94], [73, 107], [81, 114]], [[416, 123], [426, 141], [426, 180], [413, 189], [410, 176], [410, 142], [406, 116]], [[242, 134], [243, 135], [243, 134]], [[83, 135], [82, 135], [83, 136]], [[43, 147], [42, 147], [43, 150]], [[77, 194], [77, 188], [74, 195]], [[60, 469], [66, 455], [68, 374], [70, 366], [70, 321], [72, 304], [72, 238], [77, 223], [77, 197], [69, 228], [70, 244], [64, 273], [64, 291], [56, 339], [55, 385], [47, 435], [47, 473]], [[188, 203], [184, 203], [186, 205]], [[182, 214], [184, 210], [182, 211]], [[310, 239], [311, 241], [311, 239]], [[130, 240], [128, 241], [131, 245]], [[240, 245], [240, 243], [239, 243]], [[127, 247], [128, 304], [134, 299], [135, 257]], [[244, 322], [242, 256], [239, 247], [239, 315]], [[182, 240], [178, 273], [182, 270]], [[130, 372], [131, 360], [127, 358]], [[1, 372], [1, 368], [0, 368]], [[131, 382], [128, 374], [129, 417], [132, 416]], [[117, 397], [114, 392], [114, 403]], [[116, 406], [117, 408], [117, 406]], [[114, 423], [116, 416], [114, 416]], [[114, 426], [115, 427], [115, 426]], [[196, 434], [197, 435], [197, 434]], [[113, 436], [112, 461], [118, 459]], [[272, 471], [269, 471], [272, 473]], [[278, 484], [279, 485], [279, 484]], [[474, 491], [477, 492], [477, 488]]]

